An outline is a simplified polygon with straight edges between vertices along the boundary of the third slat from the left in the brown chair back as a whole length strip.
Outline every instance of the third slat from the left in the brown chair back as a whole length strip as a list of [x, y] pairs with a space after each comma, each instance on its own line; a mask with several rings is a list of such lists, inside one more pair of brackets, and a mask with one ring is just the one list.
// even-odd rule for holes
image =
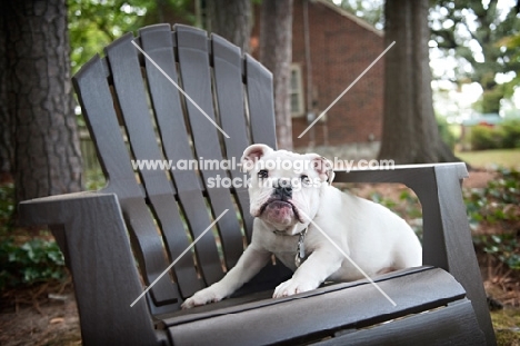
[[[176, 70], [177, 61], [173, 53], [173, 37], [170, 27], [149, 27], [141, 30], [140, 34], [147, 55], [153, 59], [171, 80], [178, 82], [178, 73]], [[194, 159], [190, 148], [190, 139], [184, 123], [178, 89], [156, 66], [153, 66], [153, 63], [151, 63], [151, 61], [146, 59], [144, 66], [151, 92], [151, 102], [167, 159], [172, 162]], [[193, 238], [197, 238], [211, 224], [197, 174], [191, 169], [176, 169], [171, 171], [171, 176], [173, 177], [181, 205], [188, 206], [183, 209], [184, 216]], [[188, 246], [184, 246], [184, 249], [187, 247]], [[196, 248], [198, 263], [206, 281], [214, 283], [219, 280], [223, 271], [214, 238], [211, 235], [202, 237], [197, 243]], [[178, 249], [180, 249], [180, 245]], [[176, 253], [178, 251], [176, 250]], [[188, 270], [187, 268], [184, 269]], [[176, 271], [176, 274], [178, 275], [179, 281], [184, 279], [184, 277], [180, 276], [181, 274], [179, 270]], [[188, 283], [180, 283], [184, 297], [191, 296], [194, 290], [197, 290], [197, 287], [199, 287], [199, 285], [191, 286], [189, 284], [189, 281], [192, 281], [193, 277], [192, 273], [188, 271], [187, 274], [189, 275]]]

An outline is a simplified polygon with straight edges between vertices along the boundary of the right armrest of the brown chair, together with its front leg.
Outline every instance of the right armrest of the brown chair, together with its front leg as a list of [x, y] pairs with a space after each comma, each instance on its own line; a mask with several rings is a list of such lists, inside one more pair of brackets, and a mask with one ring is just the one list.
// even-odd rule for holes
[[406, 165], [393, 169], [336, 170], [334, 182], [400, 182], [422, 206], [422, 263], [443, 268], [464, 287], [488, 340], [494, 340], [486, 291], [469, 228], [461, 181], [463, 162]]

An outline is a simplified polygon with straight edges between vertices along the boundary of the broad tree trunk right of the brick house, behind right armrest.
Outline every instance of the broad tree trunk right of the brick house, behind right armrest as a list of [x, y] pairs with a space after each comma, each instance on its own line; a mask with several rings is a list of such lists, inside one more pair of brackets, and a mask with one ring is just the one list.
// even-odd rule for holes
[[433, 112], [428, 0], [387, 0], [381, 159], [396, 164], [458, 160], [442, 142]]

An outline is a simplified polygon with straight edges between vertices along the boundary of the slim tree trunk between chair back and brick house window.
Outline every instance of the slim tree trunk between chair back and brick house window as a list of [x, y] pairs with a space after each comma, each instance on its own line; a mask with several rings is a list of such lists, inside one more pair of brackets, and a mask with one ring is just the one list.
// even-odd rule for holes
[[262, 1], [260, 61], [273, 75], [278, 147], [290, 150], [292, 149], [290, 102], [292, 0]]

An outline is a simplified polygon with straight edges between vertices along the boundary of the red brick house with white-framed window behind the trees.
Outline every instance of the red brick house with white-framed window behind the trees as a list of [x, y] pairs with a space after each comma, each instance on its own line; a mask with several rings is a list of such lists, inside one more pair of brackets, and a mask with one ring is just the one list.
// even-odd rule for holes
[[[323, 120], [301, 139], [298, 136], [312, 122], [312, 113], [319, 116], [384, 50], [383, 32], [327, 0], [293, 3], [291, 108], [296, 150], [312, 149], [342, 158], [376, 157], [382, 130], [383, 59]], [[252, 32], [253, 55], [258, 53], [259, 17]]]

